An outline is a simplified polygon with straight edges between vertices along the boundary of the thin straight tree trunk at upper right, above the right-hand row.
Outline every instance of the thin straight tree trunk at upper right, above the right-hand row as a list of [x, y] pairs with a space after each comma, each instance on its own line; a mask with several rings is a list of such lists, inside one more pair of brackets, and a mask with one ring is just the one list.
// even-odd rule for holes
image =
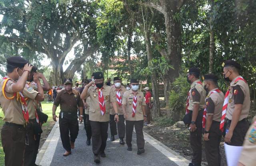
[[214, 0], [211, 0], [209, 73], [212, 73], [213, 71], [213, 54], [214, 54], [213, 6], [214, 6]]

